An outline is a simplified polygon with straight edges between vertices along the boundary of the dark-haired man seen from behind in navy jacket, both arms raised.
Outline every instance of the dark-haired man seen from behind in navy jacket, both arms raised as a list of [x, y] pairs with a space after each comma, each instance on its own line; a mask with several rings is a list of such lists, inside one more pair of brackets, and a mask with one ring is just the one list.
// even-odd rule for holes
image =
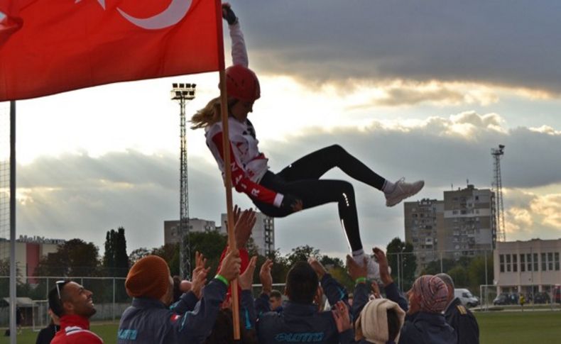
[[[270, 261], [261, 268], [260, 277], [263, 294], [256, 299], [259, 343], [351, 343], [347, 291], [317, 260], [297, 262], [290, 268], [285, 287], [288, 301], [280, 314], [269, 306]], [[313, 304], [319, 281], [329, 304], [336, 305], [337, 316], [333, 311], [318, 311]]]

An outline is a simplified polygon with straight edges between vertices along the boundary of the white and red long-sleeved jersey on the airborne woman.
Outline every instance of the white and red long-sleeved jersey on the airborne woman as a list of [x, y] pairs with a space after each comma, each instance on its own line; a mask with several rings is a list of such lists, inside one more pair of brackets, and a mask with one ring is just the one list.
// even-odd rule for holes
[[[238, 192], [244, 192], [252, 199], [279, 207], [283, 194], [274, 192], [259, 184], [268, 171], [268, 159], [259, 152], [254, 126], [246, 120], [244, 123], [229, 117], [230, 159], [232, 162], [232, 186]], [[224, 156], [222, 150], [222, 122], [205, 128], [207, 146], [224, 177]]]

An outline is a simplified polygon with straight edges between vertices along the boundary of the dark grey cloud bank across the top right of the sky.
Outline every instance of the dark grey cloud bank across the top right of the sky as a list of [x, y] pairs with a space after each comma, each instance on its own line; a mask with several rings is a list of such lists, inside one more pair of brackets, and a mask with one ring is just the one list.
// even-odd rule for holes
[[558, 1], [239, 1], [251, 65], [307, 82], [466, 81], [559, 94]]

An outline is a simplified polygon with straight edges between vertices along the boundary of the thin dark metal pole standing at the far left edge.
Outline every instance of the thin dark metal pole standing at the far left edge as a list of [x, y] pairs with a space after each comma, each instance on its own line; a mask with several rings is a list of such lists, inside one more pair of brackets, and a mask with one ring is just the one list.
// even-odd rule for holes
[[16, 101], [10, 101], [10, 343], [16, 344]]

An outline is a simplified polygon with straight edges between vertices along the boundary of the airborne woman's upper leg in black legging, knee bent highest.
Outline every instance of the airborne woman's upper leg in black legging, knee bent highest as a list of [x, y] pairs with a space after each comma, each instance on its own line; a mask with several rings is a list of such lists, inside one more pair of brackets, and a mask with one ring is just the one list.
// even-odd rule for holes
[[386, 179], [376, 174], [356, 157], [344, 150], [340, 145], [331, 145], [316, 150], [299, 160], [296, 160], [279, 175], [287, 182], [300, 179], [319, 179], [325, 172], [333, 167], [339, 167], [343, 172], [360, 182], [382, 190]]

